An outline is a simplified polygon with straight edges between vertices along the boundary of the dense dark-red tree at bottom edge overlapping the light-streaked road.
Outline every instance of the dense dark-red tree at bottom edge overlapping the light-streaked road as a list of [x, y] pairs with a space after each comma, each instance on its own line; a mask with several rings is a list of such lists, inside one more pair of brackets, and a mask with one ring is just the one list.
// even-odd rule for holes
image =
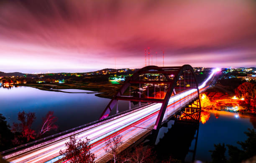
[[66, 150], [59, 151], [60, 155], [64, 155], [62, 160], [69, 160], [69, 163], [94, 163], [95, 155], [90, 152], [92, 146], [89, 143], [89, 139], [79, 140], [75, 136], [70, 136], [69, 141], [65, 143]]

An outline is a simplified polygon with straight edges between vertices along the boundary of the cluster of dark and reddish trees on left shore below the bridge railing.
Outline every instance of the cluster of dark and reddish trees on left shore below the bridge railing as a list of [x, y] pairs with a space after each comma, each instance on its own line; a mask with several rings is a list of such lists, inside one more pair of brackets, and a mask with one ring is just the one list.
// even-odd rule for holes
[[41, 128], [33, 130], [31, 128], [35, 113], [26, 113], [24, 111], [18, 113], [19, 123], [13, 123], [10, 126], [3, 114], [0, 114], [0, 151], [7, 150], [33, 140], [46, 136], [51, 130], [56, 130], [58, 126], [55, 124], [57, 118], [53, 111], [49, 111], [42, 119]]

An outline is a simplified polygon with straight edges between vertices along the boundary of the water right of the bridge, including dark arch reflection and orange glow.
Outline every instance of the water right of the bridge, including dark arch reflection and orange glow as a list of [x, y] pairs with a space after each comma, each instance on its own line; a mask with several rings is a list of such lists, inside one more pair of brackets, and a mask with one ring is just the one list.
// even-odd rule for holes
[[191, 162], [194, 158], [210, 162], [209, 150], [214, 150], [214, 144], [237, 146], [237, 141], [246, 140], [247, 128], [256, 128], [256, 116], [246, 113], [202, 110], [198, 126], [194, 120], [197, 115], [192, 115], [191, 110], [185, 113], [187, 115], [181, 114], [180, 119], [171, 120], [164, 132], [160, 130], [162, 136], [156, 145], [159, 157], [167, 159], [171, 155], [182, 162]]

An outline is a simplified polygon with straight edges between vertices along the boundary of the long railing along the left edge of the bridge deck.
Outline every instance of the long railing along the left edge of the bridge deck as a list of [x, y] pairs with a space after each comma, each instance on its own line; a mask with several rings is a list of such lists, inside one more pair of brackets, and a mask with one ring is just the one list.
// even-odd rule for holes
[[11, 148], [11, 149], [8, 149], [8, 150], [4, 150], [4, 151], [0, 152], [0, 154], [3, 155], [3, 154], [5, 154], [5, 153], [11, 153], [12, 151], [14, 152], [15, 150], [19, 150], [19, 149], [23, 149], [23, 148], [28, 148], [28, 147], [30, 147], [30, 146], [33, 145], [33, 144], [43, 143], [44, 141], [50, 140], [50, 139], [52, 139], [52, 138], [56, 138], [56, 137], [59, 137], [59, 136], [61, 136], [61, 135], [65, 135], [65, 134], [68, 134], [68, 133], [72, 133], [72, 132], [74, 132], [74, 131], [76, 131], [76, 130], [79, 130], [79, 129], [88, 127], [88, 126], [90, 126], [90, 125], [94, 125], [94, 124], [96, 124], [96, 123], [100, 123], [100, 122], [102, 122], [102, 121], [109, 120], [109, 119], [114, 118], [114, 117], [116, 117], [116, 116], [118, 116], [118, 115], [122, 115], [122, 114], [124, 114], [124, 113], [131, 112], [131, 111], [136, 110], [136, 109], [138, 109], [138, 108], [143, 108], [144, 106], [147, 106], [147, 105], [151, 105], [151, 103], [147, 103], [147, 104], [145, 104], [145, 105], [141, 105], [141, 106], [135, 107], [135, 108], [133, 108], [133, 109], [131, 109], [131, 110], [126, 110], [126, 111], [120, 112], [120, 113], [118, 113], [118, 114], [111, 115], [111, 116], [109, 116], [109, 117], [107, 117], [107, 118], [105, 118], [105, 119], [95, 120], [95, 121], [93, 121], [93, 122], [90, 122], [90, 123], [87, 123], [87, 124], [84, 124], [84, 125], [80, 125], [80, 126], [78, 126], [78, 127], [71, 128], [71, 129], [69, 129], [69, 130], [65, 130], [65, 131], [62, 131], [62, 132], [60, 132], [60, 133], [56, 133], [56, 134], [54, 134], [54, 135], [50, 135], [50, 136], [47, 136], [47, 137], [45, 137], [45, 138], [38, 139], [38, 140], [32, 141], [32, 142], [30, 142], [30, 143], [26, 143], [26, 144], [20, 145], [20, 146], [15, 147], [15, 148]]

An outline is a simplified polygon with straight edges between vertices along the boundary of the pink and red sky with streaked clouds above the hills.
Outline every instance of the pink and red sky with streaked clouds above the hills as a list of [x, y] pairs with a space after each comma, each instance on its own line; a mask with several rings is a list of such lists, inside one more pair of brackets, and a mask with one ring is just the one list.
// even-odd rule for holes
[[148, 47], [150, 65], [256, 67], [256, 0], [0, 1], [3, 72], [142, 68]]

